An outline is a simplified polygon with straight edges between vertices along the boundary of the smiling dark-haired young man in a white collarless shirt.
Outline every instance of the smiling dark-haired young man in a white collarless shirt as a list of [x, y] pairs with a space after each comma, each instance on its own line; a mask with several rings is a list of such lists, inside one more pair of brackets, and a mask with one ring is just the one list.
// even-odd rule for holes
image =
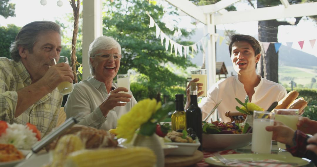
[[[244, 101], [245, 96], [248, 95], [250, 102], [268, 109], [273, 102], [278, 102], [287, 95], [283, 86], [256, 74], [256, 64], [261, 57], [261, 46], [254, 37], [234, 34], [230, 39], [231, 62], [238, 75], [218, 81], [207, 91], [207, 97], [198, 104], [202, 110], [203, 119], [221, 99], [223, 101], [217, 108], [218, 117], [220, 121], [228, 122], [230, 118], [226, 117], [225, 113], [236, 111], [236, 106], [241, 107], [235, 98]], [[197, 81], [196, 78], [191, 82]], [[198, 86], [201, 86], [201, 83]]]

